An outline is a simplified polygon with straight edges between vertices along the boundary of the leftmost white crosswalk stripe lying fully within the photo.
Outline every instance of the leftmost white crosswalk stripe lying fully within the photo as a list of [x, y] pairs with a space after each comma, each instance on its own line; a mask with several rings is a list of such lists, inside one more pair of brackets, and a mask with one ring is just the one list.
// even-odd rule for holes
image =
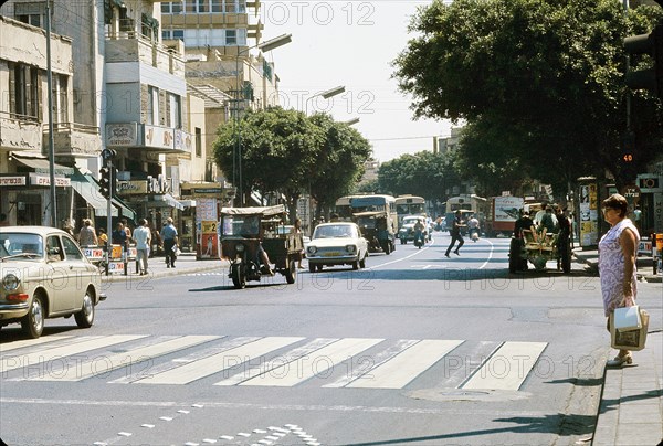
[[81, 381], [91, 376], [109, 373], [113, 370], [130, 367], [138, 362], [150, 361], [180, 349], [219, 339], [218, 336], [185, 336], [168, 341], [144, 346], [134, 350], [95, 358], [92, 361], [76, 363], [64, 370], [54, 370], [29, 378], [31, 381]]

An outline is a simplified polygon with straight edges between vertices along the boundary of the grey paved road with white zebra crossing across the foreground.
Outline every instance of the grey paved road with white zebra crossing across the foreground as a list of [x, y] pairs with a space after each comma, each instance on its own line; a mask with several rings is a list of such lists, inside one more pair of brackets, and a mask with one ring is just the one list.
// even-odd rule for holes
[[[116, 282], [90, 330], [53, 321], [24, 341], [6, 328], [2, 437], [478, 445], [591, 434], [608, 352], [597, 279], [579, 265], [509, 277], [507, 241], [469, 242], [452, 259], [446, 241], [291, 286], [275, 276], [235, 290], [213, 270]], [[28, 432], [27, 417], [39, 421]]]

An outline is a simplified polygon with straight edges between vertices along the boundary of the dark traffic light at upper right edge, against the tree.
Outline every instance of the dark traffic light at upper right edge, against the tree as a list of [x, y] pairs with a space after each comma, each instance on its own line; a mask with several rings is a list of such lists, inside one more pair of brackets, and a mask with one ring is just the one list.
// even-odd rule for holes
[[629, 88], [648, 89], [663, 99], [663, 22], [656, 24], [649, 34], [625, 38], [624, 49], [630, 56], [649, 54], [653, 61], [651, 68], [628, 70], [625, 81]]

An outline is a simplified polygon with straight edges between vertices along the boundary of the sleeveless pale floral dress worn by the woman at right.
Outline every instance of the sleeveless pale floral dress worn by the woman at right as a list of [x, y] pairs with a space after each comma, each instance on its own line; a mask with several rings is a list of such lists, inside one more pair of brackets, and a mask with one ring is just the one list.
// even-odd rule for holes
[[[599, 242], [599, 272], [606, 316], [610, 316], [624, 298], [624, 255], [619, 244], [619, 237], [627, 227], [635, 234], [635, 248], [638, 248], [640, 234], [633, 222], [629, 219], [624, 219], [612, 226]], [[633, 299], [635, 299], [638, 295], [635, 265], [633, 265], [633, 276], [630, 280], [633, 289]]]

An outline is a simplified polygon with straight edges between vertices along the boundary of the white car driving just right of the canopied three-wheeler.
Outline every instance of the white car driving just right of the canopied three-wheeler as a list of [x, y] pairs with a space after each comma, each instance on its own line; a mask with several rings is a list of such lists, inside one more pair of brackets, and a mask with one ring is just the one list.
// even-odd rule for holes
[[356, 223], [335, 222], [318, 224], [306, 248], [308, 270], [322, 270], [327, 265], [351, 265], [352, 269], [366, 267], [368, 242]]

